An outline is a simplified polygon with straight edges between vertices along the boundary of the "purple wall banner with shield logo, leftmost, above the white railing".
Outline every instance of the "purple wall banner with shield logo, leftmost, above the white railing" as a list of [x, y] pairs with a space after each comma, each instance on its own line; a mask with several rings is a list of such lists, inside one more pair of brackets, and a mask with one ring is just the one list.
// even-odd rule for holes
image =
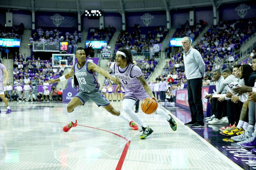
[[37, 26], [41, 27], [78, 27], [77, 16], [71, 13], [37, 12], [35, 18]]

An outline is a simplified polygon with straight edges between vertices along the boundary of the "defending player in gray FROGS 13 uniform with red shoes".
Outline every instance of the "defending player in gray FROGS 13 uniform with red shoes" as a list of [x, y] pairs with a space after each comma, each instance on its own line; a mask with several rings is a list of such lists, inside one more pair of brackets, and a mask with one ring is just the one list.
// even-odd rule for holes
[[114, 83], [120, 83], [118, 78], [112, 77], [107, 71], [103, 70], [101, 67], [97, 66], [94, 63], [88, 62], [86, 57], [89, 56], [90, 50], [93, 47], [90, 46], [90, 43], [84, 48], [78, 47], [75, 57], [77, 58], [77, 63], [71, 67], [69, 73], [61, 76], [58, 79], [51, 79], [45, 83], [55, 83], [59, 81], [64, 81], [66, 79], [72, 78], [74, 75], [78, 80], [80, 91], [75, 95], [69, 104], [67, 105], [67, 113], [71, 119], [71, 122], [63, 127], [63, 131], [69, 131], [72, 127], [77, 126], [77, 120], [75, 119], [74, 109], [79, 105], [84, 105], [88, 101], [93, 101], [98, 105], [102, 106], [108, 112], [115, 116], [120, 116], [123, 120], [129, 123], [129, 126], [133, 130], [138, 130], [137, 124], [134, 121], [127, 118], [120, 111], [117, 111], [109, 103], [105, 96], [102, 95], [101, 90], [99, 90], [99, 83], [97, 82], [97, 77], [95, 76], [95, 71], [99, 74], [109, 78]]

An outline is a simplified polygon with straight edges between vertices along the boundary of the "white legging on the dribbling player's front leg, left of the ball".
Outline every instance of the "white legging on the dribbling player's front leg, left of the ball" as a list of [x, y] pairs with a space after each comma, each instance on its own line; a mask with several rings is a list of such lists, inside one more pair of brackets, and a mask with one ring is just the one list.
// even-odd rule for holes
[[131, 119], [137, 123], [140, 127], [147, 127], [147, 125], [139, 118], [138, 114], [136, 114], [133, 111], [133, 106], [135, 104], [135, 100], [125, 98], [123, 99], [122, 105], [123, 105], [123, 110], [125, 113], [127, 113]]

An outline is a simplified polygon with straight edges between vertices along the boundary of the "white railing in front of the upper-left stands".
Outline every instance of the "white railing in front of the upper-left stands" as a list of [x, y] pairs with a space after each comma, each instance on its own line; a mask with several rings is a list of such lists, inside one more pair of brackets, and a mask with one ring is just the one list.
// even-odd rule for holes
[[33, 51], [59, 52], [59, 43], [33, 42]]

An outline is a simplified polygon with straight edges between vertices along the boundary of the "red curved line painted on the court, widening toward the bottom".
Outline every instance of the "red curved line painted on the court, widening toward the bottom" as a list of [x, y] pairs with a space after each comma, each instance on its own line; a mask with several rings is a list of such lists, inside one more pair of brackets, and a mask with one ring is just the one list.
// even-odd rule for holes
[[[53, 121], [43, 121], [43, 120], [29, 120], [29, 121], [53, 122]], [[63, 123], [63, 122], [53, 122], [53, 123]], [[63, 124], [66, 124], [66, 123], [63, 123]], [[78, 125], [78, 126], [84, 126], [84, 125]], [[108, 132], [108, 133], [112, 133], [112, 134], [117, 135], [118, 137], [120, 137], [120, 138], [122, 138], [122, 139], [124, 139], [126, 141], [125, 147], [123, 148], [123, 152], [122, 152], [122, 154], [120, 156], [120, 159], [119, 159], [119, 161], [117, 163], [117, 167], [115, 168], [115, 170], [121, 170], [122, 166], [123, 166], [123, 162], [125, 161], [125, 157], [126, 157], [126, 154], [127, 154], [127, 151], [128, 151], [128, 148], [130, 146], [131, 141], [129, 139], [127, 139], [127, 138], [125, 138], [125, 137], [123, 137], [123, 136], [121, 136], [119, 134], [116, 134], [114, 132], [111, 132], [111, 131], [107, 131], [107, 130], [99, 129], [99, 128], [94, 128], [94, 127], [90, 127], [90, 126], [84, 126], [84, 127], [93, 128], [93, 129], [102, 130], [102, 131], [105, 131], [105, 132]]]

